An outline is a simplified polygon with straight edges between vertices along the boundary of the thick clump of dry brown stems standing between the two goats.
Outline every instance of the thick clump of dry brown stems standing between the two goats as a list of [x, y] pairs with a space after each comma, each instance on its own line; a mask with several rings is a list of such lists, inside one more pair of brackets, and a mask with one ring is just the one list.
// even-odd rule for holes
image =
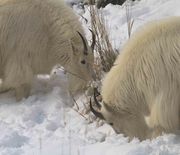
[[103, 14], [94, 6], [90, 6], [91, 28], [96, 36], [95, 43], [95, 72], [97, 80], [102, 78], [103, 72], [108, 72], [118, 55], [118, 51], [114, 50], [109, 40], [107, 31], [107, 23]]

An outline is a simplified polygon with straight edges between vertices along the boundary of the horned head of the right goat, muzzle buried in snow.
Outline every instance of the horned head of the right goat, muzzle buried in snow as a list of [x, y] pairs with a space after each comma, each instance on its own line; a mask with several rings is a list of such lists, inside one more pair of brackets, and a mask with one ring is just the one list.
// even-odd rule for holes
[[138, 137], [140, 140], [150, 136], [151, 130], [146, 125], [144, 117], [140, 112], [131, 111], [125, 107], [115, 107], [113, 106], [115, 105], [114, 103], [107, 104], [106, 101], [102, 101], [102, 104], [100, 104], [96, 96], [96, 93], [94, 93], [94, 101], [97, 108], [95, 110], [90, 101], [91, 111], [97, 117], [110, 124], [116, 133], [123, 133], [125, 136], [130, 137], [130, 139]]

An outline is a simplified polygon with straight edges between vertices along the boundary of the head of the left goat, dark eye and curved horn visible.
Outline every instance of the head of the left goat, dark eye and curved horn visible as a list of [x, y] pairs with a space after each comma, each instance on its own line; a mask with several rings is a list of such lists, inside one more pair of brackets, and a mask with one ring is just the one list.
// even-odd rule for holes
[[68, 67], [69, 90], [72, 94], [83, 91], [89, 81], [95, 78], [93, 49], [79, 32], [77, 36], [80, 43], [77, 43], [78, 40], [71, 43], [71, 62]]

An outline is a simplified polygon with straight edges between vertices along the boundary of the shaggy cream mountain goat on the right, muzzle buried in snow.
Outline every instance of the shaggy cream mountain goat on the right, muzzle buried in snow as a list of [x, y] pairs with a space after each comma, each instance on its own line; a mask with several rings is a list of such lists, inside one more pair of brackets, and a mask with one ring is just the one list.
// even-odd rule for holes
[[180, 17], [151, 22], [124, 46], [92, 112], [140, 140], [180, 130]]

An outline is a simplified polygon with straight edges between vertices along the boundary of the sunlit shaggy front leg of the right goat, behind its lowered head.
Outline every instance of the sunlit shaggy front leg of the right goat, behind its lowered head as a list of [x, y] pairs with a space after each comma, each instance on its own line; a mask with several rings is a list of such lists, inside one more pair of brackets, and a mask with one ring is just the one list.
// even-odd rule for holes
[[[176, 95], [175, 95], [176, 96]], [[151, 113], [145, 117], [149, 128], [154, 130], [154, 135], [162, 132], [176, 132], [180, 127], [179, 97], [170, 95], [158, 95], [151, 107]]]

